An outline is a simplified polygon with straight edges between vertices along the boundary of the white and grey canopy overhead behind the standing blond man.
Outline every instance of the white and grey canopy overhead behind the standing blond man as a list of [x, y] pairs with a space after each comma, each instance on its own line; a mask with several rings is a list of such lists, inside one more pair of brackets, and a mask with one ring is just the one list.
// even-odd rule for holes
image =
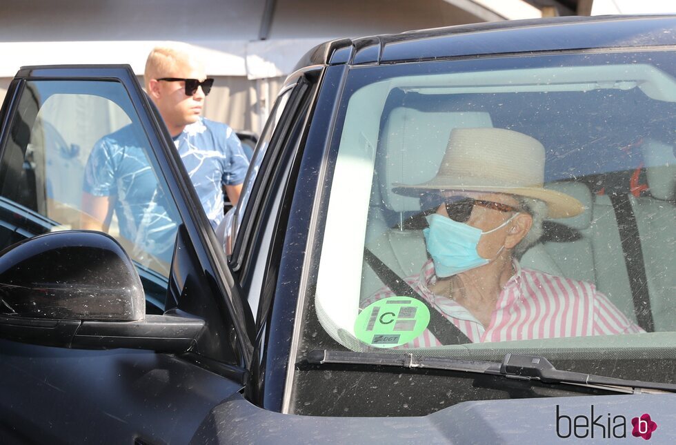
[[63, 63], [129, 63], [141, 74], [161, 41], [197, 46], [212, 76], [280, 77], [323, 41], [515, 18], [509, 11], [538, 12], [522, 0], [3, 0], [0, 78]]

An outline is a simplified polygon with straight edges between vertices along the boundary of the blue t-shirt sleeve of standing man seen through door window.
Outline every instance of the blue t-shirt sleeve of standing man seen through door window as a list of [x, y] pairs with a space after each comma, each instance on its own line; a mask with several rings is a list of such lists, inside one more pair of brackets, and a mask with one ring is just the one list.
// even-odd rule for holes
[[114, 141], [108, 137], [100, 139], [92, 149], [85, 168], [83, 190], [94, 196], [117, 194], [115, 181]]

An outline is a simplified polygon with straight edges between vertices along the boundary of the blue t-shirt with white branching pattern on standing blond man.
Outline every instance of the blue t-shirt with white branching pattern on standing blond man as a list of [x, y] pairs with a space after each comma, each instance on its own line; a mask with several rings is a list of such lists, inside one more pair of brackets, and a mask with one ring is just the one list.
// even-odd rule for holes
[[[239, 139], [225, 124], [199, 119], [186, 126], [175, 144], [216, 228], [223, 219], [221, 184], [241, 184], [248, 168]], [[94, 196], [116, 197], [120, 235], [139, 249], [136, 256], [144, 251], [170, 262], [179, 217], [171, 199], [158, 187], [148, 150], [144, 137], [137, 137], [132, 126], [101, 138], [87, 161], [83, 189]]]

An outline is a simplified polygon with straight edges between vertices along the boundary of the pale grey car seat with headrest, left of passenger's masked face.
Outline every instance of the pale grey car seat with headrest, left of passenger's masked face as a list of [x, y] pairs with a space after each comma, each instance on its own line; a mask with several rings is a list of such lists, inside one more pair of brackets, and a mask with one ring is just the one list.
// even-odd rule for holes
[[[388, 115], [378, 144], [366, 247], [399, 276], [418, 273], [427, 254], [420, 230], [391, 228], [420, 211], [419, 199], [395, 194], [392, 184], [417, 184], [434, 177], [453, 128], [490, 126], [487, 112], [423, 112], [397, 107]], [[366, 264], [361, 283], [362, 296], [383, 286]]]

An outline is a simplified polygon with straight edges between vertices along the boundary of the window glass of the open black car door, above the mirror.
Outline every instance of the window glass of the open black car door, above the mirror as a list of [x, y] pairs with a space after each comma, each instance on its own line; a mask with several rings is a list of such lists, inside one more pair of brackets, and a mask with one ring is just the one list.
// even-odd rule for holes
[[123, 84], [27, 81], [18, 107], [0, 160], [0, 248], [55, 230], [105, 231], [163, 308], [179, 217]]

